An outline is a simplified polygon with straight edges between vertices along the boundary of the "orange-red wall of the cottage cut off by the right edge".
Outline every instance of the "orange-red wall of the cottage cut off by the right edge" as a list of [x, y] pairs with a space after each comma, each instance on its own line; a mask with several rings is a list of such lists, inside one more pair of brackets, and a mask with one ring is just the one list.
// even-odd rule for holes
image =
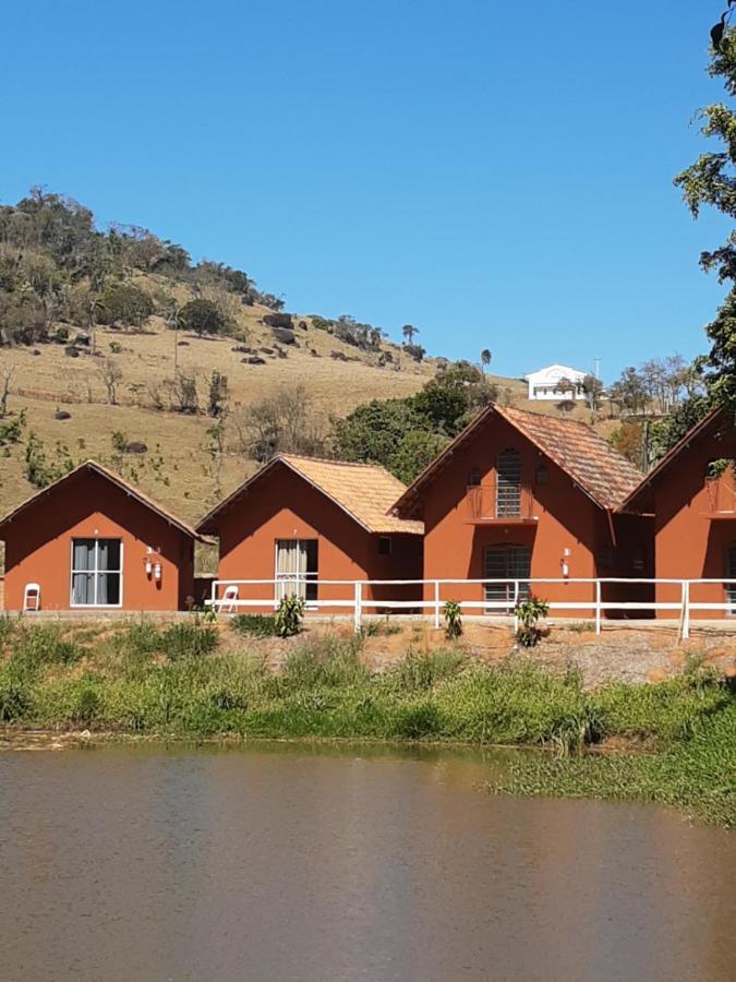
[[[733, 518], [712, 520], [707, 517], [711, 499], [705, 475], [710, 460], [736, 456], [736, 431], [732, 428], [719, 435], [716, 426], [676, 457], [653, 482], [655, 526], [655, 567], [663, 579], [717, 579], [726, 574], [726, 553], [736, 546], [736, 513]], [[733, 501], [733, 475], [720, 479], [719, 507]], [[660, 602], [678, 602], [678, 586], [657, 585]], [[691, 589], [691, 601], [723, 603], [723, 584]], [[716, 619], [723, 611], [692, 611], [693, 618]], [[661, 611], [661, 618], [677, 618], [676, 611]]]

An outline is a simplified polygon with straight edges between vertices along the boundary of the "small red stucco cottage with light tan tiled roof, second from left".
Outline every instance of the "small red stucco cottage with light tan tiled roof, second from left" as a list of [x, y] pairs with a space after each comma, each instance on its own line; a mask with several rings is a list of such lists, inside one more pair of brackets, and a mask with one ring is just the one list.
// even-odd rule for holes
[[[217, 505], [197, 531], [219, 537], [221, 580], [276, 579], [274, 601], [297, 592], [307, 606], [352, 602], [350, 586], [329, 580], [421, 579], [422, 524], [389, 514], [405, 491], [383, 467], [285, 454]], [[269, 597], [269, 590], [239, 584], [238, 599]], [[406, 600], [417, 591], [386, 586], [363, 596]]]

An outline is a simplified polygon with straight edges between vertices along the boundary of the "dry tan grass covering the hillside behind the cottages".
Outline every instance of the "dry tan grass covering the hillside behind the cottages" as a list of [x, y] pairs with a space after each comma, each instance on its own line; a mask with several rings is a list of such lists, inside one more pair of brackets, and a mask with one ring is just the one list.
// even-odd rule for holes
[[[189, 292], [184, 287], [182, 291], [179, 299], [183, 301]], [[25, 412], [26, 436], [34, 431], [50, 457], [61, 443], [75, 463], [94, 457], [114, 467], [111, 436], [116, 431], [129, 441], [144, 442], [148, 453], [126, 457], [125, 476], [137, 480], [144, 491], [183, 518], [195, 520], [218, 498], [207, 448], [207, 429], [213, 421], [204, 415], [188, 416], [169, 408], [154, 408], [157, 399], [169, 406], [166, 382], [174, 374], [174, 358], [180, 374], [196, 378], [201, 405], [206, 404], [207, 384], [214, 371], [227, 375], [233, 419], [240, 407], [301, 385], [325, 430], [330, 417], [345, 416], [374, 398], [411, 395], [435, 374], [436, 360], [418, 363], [399, 346], [389, 343], [382, 349], [394, 358], [394, 363], [379, 367], [376, 354], [360, 351], [336, 339], [315, 327], [310, 318], [304, 319], [306, 330], [295, 328], [295, 345], [279, 345], [263, 323], [263, 316], [268, 313], [266, 308], [238, 306], [233, 314], [242, 340], [179, 333], [177, 345], [174, 332], [160, 318], [152, 318], [146, 330], [140, 333], [98, 327], [98, 357], [86, 352], [71, 358], [62, 345], [53, 344], [40, 346], [36, 349], [38, 354], [25, 347], [0, 349], [0, 367], [14, 369], [9, 408]], [[300, 318], [294, 315], [294, 324], [299, 322]], [[238, 346], [256, 349], [265, 364], [243, 363], [249, 355], [234, 350]], [[276, 354], [277, 347], [286, 357]], [[336, 360], [333, 352], [349, 360]], [[102, 378], [102, 368], [109, 362], [122, 372], [118, 405], [109, 404]], [[488, 379], [498, 385], [504, 403], [544, 414], [558, 412], [554, 403], [528, 403], [527, 386], [519, 380], [495, 375]], [[56, 419], [57, 409], [68, 411], [71, 418]], [[576, 407], [570, 418], [590, 421], [591, 415]], [[603, 420], [600, 426], [605, 432], [615, 423]], [[23, 454], [24, 446], [20, 444], [10, 447], [8, 456], [0, 456], [0, 513], [33, 493], [23, 474]], [[243, 455], [231, 422], [219, 492], [229, 492], [255, 467]]]

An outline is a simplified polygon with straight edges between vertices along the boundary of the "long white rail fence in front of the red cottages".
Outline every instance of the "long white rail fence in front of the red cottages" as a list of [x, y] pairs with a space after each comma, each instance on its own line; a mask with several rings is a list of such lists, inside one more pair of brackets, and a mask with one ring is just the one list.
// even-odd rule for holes
[[[677, 594], [673, 600], [606, 600], [603, 598], [604, 588], [608, 585], [630, 585], [634, 587], [657, 586], [672, 587]], [[529, 578], [529, 579], [314, 579], [297, 575], [282, 575], [275, 579], [215, 579], [212, 584], [212, 596], [206, 601], [220, 613], [237, 613], [249, 609], [275, 609], [278, 601], [288, 592], [301, 596], [305, 600], [307, 612], [345, 611], [351, 614], [355, 630], [360, 630], [363, 616], [373, 612], [401, 613], [429, 612], [434, 619], [435, 627], [442, 623], [443, 608], [447, 600], [456, 599], [453, 587], [460, 592], [466, 587], [478, 586], [479, 592], [485, 592], [487, 588], [504, 589], [506, 599], [491, 599], [480, 596], [474, 599], [459, 600], [460, 608], [466, 613], [480, 613], [493, 616], [506, 614], [514, 616], [514, 610], [521, 599], [531, 594], [531, 587], [540, 586], [563, 587], [567, 590], [571, 587], [590, 586], [590, 598], [552, 599], [548, 601], [550, 612], [567, 612], [569, 614], [591, 616], [595, 622], [595, 633], [603, 630], [603, 614], [606, 611], [657, 611], [672, 612], [677, 616], [683, 638], [690, 636], [691, 614], [693, 611], [712, 611], [713, 613], [736, 615], [736, 579], [638, 579], [626, 577], [604, 577], [591, 579], [574, 578]], [[701, 586], [717, 585], [725, 600], [723, 601], [697, 601], [692, 600], [692, 592]], [[289, 590], [288, 588], [291, 587]], [[418, 596], [411, 599], [396, 599], [388, 597], [373, 597], [375, 587], [415, 588]], [[258, 588], [258, 589], [255, 589]], [[261, 589], [263, 588], [263, 589]], [[345, 596], [324, 596], [325, 591], [333, 592], [333, 588], [342, 588]], [[554, 589], [551, 592], [558, 594], [564, 590]], [[256, 594], [257, 596], [242, 597], [241, 592]], [[323, 596], [321, 597], [321, 592]], [[544, 595], [544, 590], [541, 591]], [[313, 596], [310, 596], [313, 595]], [[516, 620], [516, 619], [515, 619]]]

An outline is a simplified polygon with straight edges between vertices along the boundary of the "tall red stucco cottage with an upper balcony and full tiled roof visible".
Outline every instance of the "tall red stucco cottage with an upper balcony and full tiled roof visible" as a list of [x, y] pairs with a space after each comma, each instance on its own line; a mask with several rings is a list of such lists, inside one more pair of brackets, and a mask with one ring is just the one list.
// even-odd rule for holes
[[[407, 489], [394, 514], [424, 522], [425, 579], [499, 580], [446, 585], [442, 599], [478, 601], [478, 613], [508, 612], [518, 579], [521, 597], [531, 589], [571, 604], [594, 599], [591, 584], [574, 579], [651, 576], [651, 519], [617, 511], [641, 477], [584, 423], [491, 405]], [[528, 586], [560, 577], [568, 582]], [[427, 599], [433, 589], [426, 587]], [[634, 585], [628, 599], [645, 592]], [[603, 599], [626, 598], [610, 585]]]

